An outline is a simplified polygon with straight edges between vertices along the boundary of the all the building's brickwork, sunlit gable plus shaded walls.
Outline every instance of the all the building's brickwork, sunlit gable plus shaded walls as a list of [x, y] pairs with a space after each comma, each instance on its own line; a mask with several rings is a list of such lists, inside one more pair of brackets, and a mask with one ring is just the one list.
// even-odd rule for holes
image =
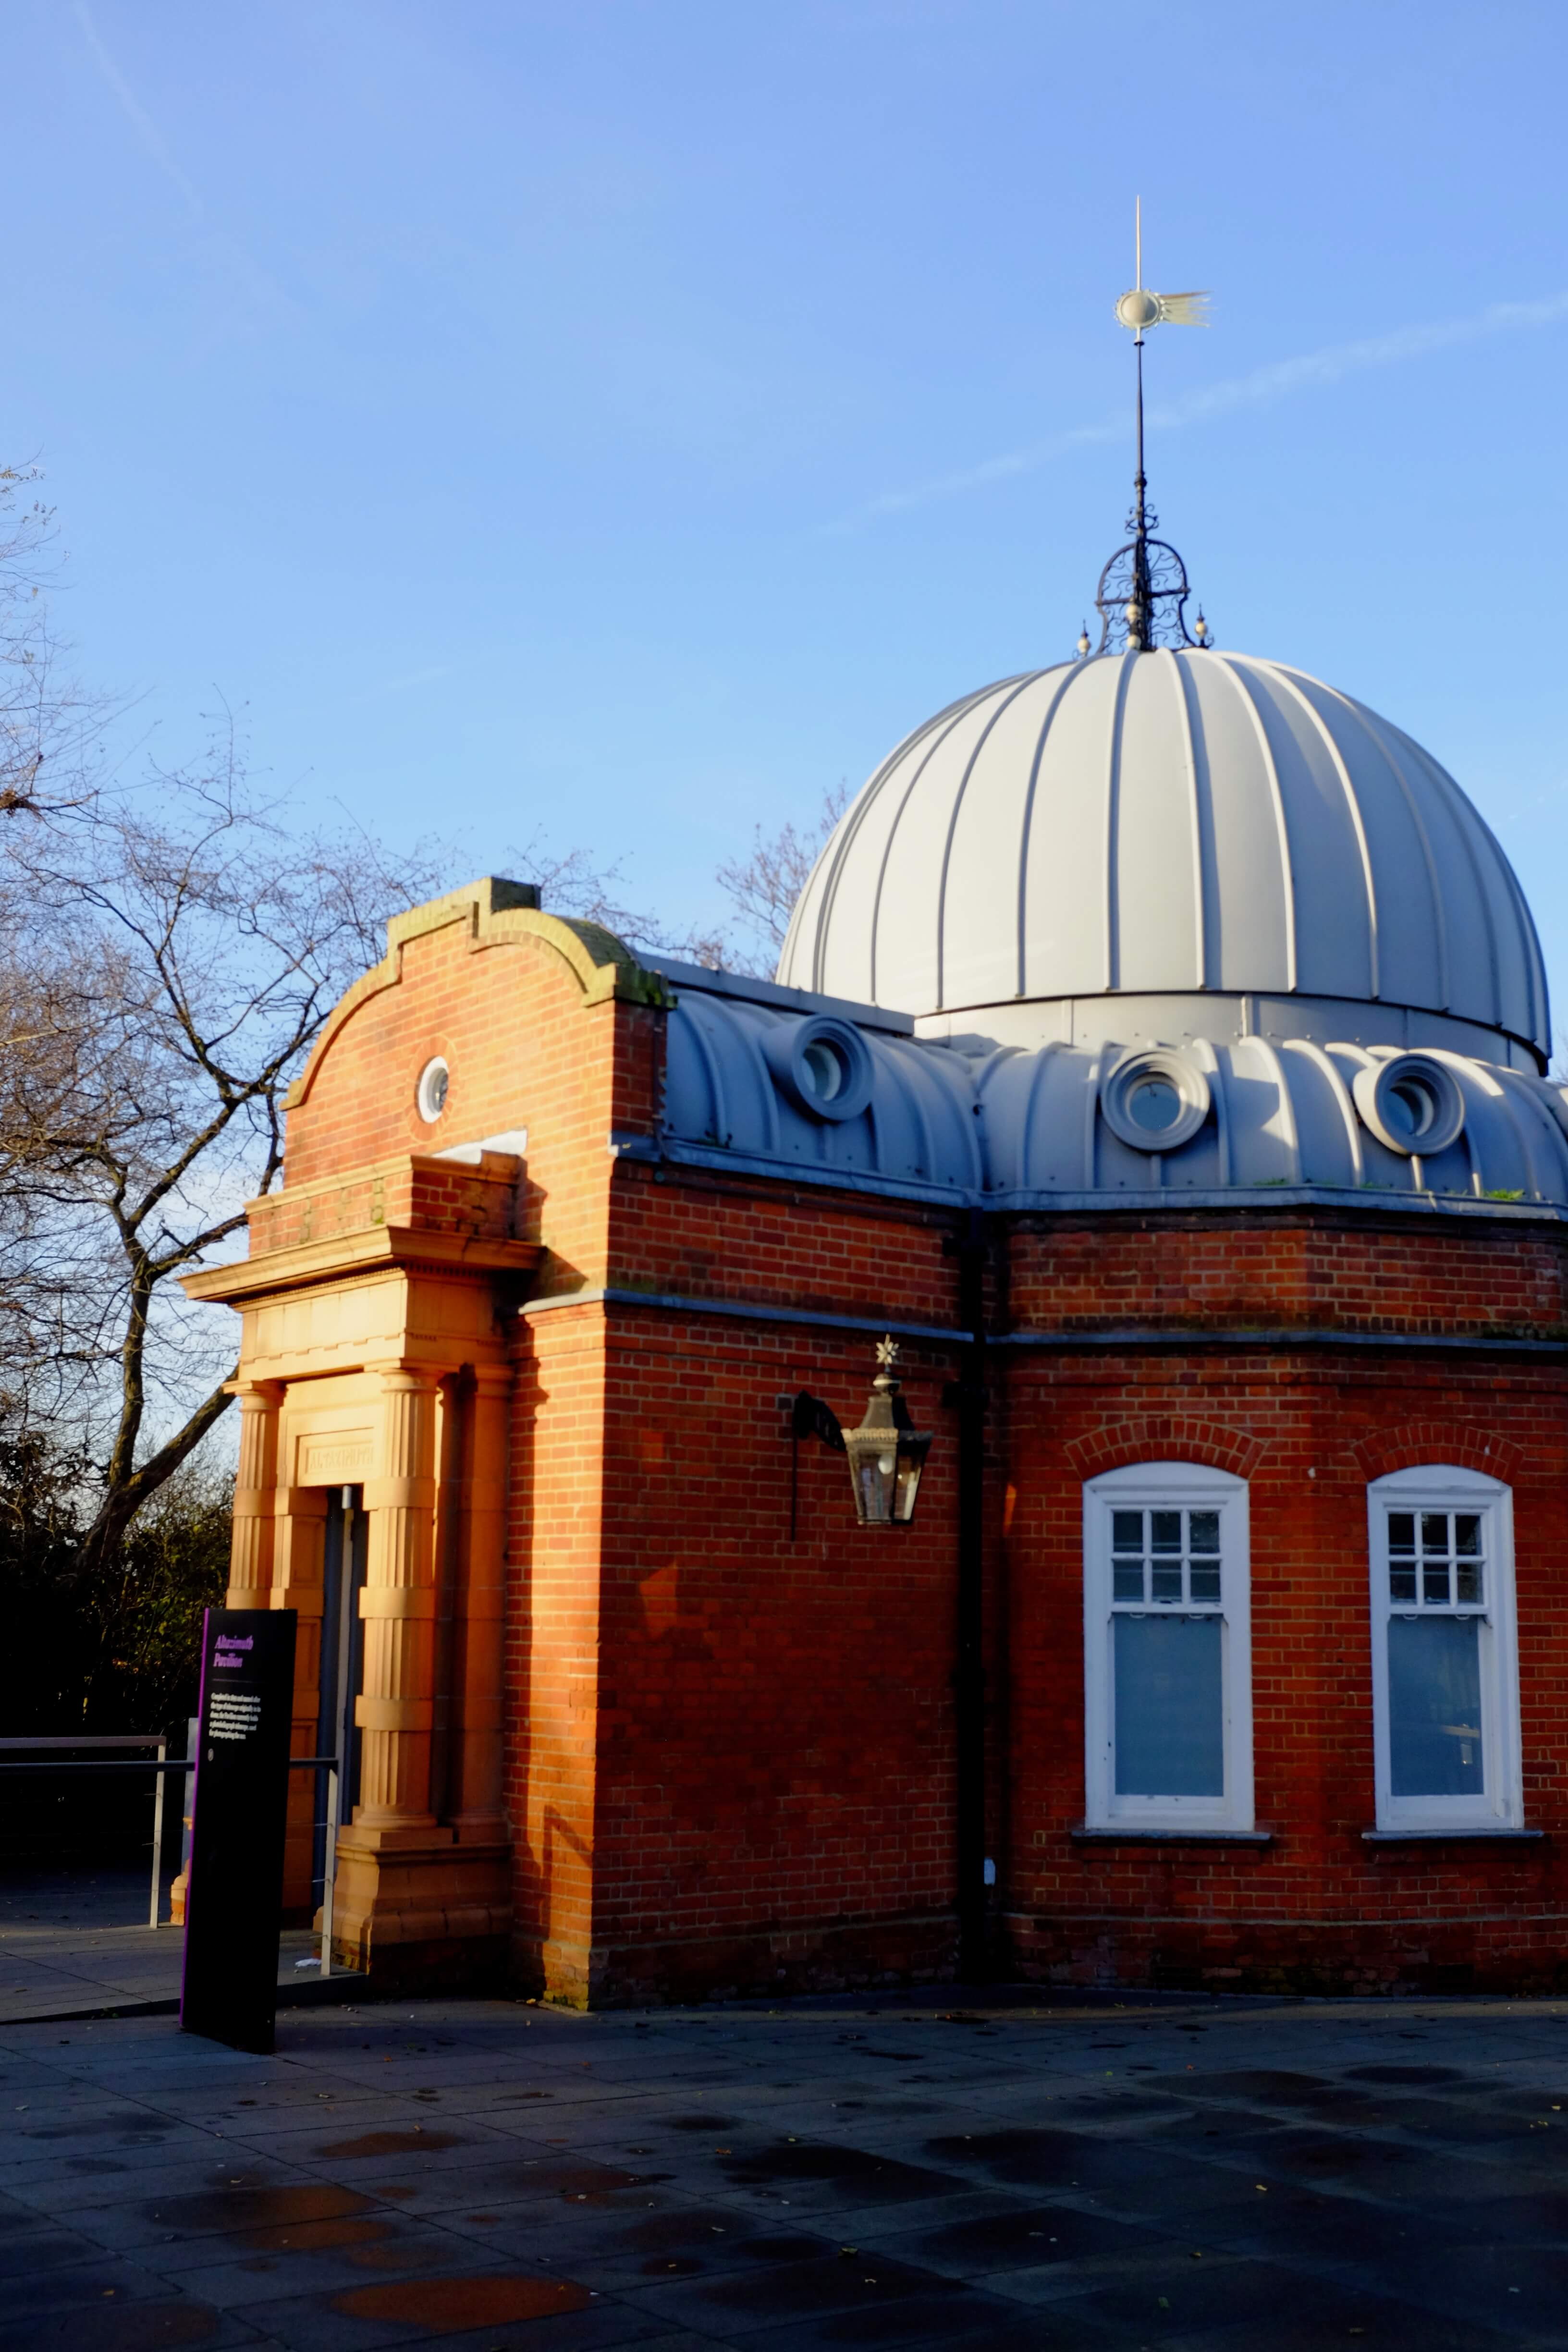
[[[616, 1157], [654, 1134], [663, 1016], [585, 1004], [538, 941], [411, 938], [289, 1120], [299, 1188], [529, 1129], [520, 1230], [538, 1289], [618, 1287], [952, 1324], [950, 1218], [780, 1178]], [[428, 1167], [428, 1162], [423, 1162]], [[411, 1183], [473, 1216], [473, 1171]], [[360, 1183], [360, 1178], [355, 1178]], [[468, 1185], [468, 1190], [465, 1190]], [[487, 1192], [484, 1200], [491, 1200]], [[360, 1214], [343, 1202], [331, 1214]], [[409, 1197], [409, 1214], [418, 1202]], [[324, 1209], [313, 1216], [327, 1214]], [[1556, 1225], [1371, 1209], [1030, 1216], [999, 1235], [987, 1623], [997, 1922], [1070, 1980], [1549, 1985], [1568, 1898], [1568, 1371], [1554, 1352], [1201, 1345], [1345, 1329], [1561, 1338]], [[1161, 1345], [1126, 1334], [1164, 1327]], [[1124, 1334], [1091, 1345], [1095, 1331]], [[1192, 1343], [1182, 1343], [1187, 1336]], [[860, 1534], [844, 1463], [799, 1456], [788, 1399], [858, 1418], [872, 1334], [588, 1301], [517, 1327], [508, 1802], [517, 1969], [569, 1999], [769, 1990], [952, 1962], [954, 1352], [907, 1350], [938, 1432], [910, 1531]], [[1065, 1343], [1063, 1343], [1065, 1341]], [[1081, 1484], [1140, 1458], [1251, 1484], [1258, 1818], [1272, 1849], [1084, 1846]], [[1523, 1755], [1537, 1846], [1368, 1849], [1366, 1482], [1460, 1461], [1514, 1484]]]

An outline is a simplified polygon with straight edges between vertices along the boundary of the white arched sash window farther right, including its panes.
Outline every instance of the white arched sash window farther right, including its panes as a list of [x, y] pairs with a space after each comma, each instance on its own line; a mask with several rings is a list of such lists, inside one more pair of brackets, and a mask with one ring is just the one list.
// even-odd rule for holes
[[1380, 1830], [1516, 1830], [1512, 1494], [1434, 1463], [1368, 1486]]

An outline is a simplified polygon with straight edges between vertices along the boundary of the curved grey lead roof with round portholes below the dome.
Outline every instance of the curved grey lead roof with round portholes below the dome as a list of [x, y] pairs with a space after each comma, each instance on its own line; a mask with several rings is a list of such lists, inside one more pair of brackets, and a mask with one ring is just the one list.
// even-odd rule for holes
[[1568, 1209], [1568, 1089], [1467, 1054], [1418, 1056], [1453, 1075], [1465, 1108], [1458, 1141], [1420, 1160], [1380, 1143], [1356, 1105], [1356, 1073], [1401, 1058], [1396, 1047], [1258, 1035], [1164, 1044], [1201, 1073], [1208, 1115], [1178, 1150], [1133, 1150], [1105, 1117], [1103, 1084], [1121, 1054], [1157, 1040], [969, 1054], [860, 1025], [870, 1101], [835, 1122], [790, 1098], [769, 1054], [769, 1040], [776, 1049], [832, 1009], [745, 988], [696, 971], [677, 985], [656, 1145], [670, 1160], [997, 1209], [1248, 1195], [1269, 1207], [1302, 1190], [1385, 1207]]

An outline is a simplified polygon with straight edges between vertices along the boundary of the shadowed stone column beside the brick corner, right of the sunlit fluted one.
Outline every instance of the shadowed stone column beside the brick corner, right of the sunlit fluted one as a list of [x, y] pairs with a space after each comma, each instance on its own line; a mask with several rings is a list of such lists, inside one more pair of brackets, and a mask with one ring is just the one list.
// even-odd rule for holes
[[508, 1837], [501, 1788], [505, 1606], [505, 1458], [512, 1371], [480, 1364], [465, 1395], [456, 1477], [447, 1809], [461, 1846]]

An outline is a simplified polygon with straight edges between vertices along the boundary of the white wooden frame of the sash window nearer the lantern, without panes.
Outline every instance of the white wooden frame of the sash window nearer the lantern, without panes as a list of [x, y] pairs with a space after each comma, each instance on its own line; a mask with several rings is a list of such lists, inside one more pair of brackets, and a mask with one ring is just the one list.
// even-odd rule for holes
[[[1220, 1512], [1222, 1797], [1119, 1797], [1114, 1771], [1112, 1510]], [[1171, 1606], [1171, 1604], [1164, 1604]], [[1150, 1609], [1147, 1613], [1159, 1613]], [[1173, 1616], [1185, 1609], [1171, 1606]], [[1204, 1609], [1204, 1616], [1211, 1611]], [[1253, 1613], [1246, 1479], [1204, 1463], [1133, 1463], [1084, 1484], [1084, 1825], [1091, 1830], [1253, 1828]]]

